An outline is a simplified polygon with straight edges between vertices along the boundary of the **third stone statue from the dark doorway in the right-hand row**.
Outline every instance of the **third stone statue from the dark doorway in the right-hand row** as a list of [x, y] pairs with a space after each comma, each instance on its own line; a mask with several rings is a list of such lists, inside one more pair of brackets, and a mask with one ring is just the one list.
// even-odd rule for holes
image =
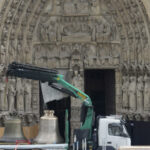
[[144, 83], [143, 83], [143, 76], [139, 76], [137, 78], [137, 111], [140, 113], [143, 110], [143, 90], [144, 90]]

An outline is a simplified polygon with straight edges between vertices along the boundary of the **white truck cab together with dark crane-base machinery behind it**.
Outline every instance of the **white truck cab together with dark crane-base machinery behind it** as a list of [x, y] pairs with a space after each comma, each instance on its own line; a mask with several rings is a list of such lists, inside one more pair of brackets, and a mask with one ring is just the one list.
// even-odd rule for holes
[[[91, 141], [84, 140], [86, 137], [75, 134], [74, 150], [115, 150], [121, 146], [130, 146], [131, 139], [126, 130], [125, 123], [120, 116], [99, 116], [92, 132]], [[89, 145], [87, 144], [89, 143]]]

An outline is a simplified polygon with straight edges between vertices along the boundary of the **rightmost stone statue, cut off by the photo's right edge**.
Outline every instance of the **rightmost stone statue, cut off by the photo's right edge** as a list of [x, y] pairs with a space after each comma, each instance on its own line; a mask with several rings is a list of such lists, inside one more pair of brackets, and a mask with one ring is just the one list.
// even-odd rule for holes
[[150, 77], [145, 74], [144, 76], [144, 110], [150, 110]]

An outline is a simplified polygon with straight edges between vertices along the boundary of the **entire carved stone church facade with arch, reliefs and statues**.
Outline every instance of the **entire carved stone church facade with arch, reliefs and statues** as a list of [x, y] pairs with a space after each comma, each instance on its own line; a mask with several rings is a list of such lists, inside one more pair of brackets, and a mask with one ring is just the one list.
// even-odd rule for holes
[[[145, 7], [146, 4], [146, 7]], [[116, 113], [150, 119], [149, 0], [2, 0], [0, 69], [12, 61], [67, 69], [84, 90], [85, 69], [114, 69]], [[39, 116], [39, 84], [0, 74], [1, 114]], [[71, 100], [71, 125], [80, 102]], [[30, 121], [32, 122], [32, 121]]]

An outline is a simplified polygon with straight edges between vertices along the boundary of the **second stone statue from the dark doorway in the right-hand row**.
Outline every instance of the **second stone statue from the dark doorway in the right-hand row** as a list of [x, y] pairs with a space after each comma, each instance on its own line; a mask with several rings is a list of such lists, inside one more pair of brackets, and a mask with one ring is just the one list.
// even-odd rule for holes
[[136, 76], [131, 75], [129, 78], [129, 109], [136, 110]]

